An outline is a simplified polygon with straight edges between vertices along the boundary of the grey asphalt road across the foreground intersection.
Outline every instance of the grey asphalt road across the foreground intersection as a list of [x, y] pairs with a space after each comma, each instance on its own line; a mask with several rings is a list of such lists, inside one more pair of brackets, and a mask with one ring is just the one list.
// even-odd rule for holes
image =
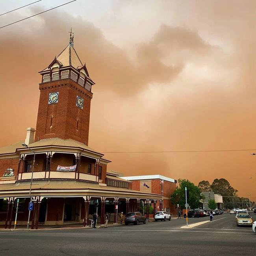
[[[256, 219], [256, 218], [255, 218]], [[189, 219], [189, 224], [208, 217]], [[0, 255], [255, 255], [256, 234], [224, 213], [180, 228], [185, 219], [97, 229], [0, 232]]]

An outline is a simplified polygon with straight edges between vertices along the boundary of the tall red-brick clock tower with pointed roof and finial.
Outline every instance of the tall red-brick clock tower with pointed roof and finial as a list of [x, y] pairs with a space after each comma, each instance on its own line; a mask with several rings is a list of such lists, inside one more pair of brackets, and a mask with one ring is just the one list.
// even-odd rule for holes
[[88, 145], [91, 86], [95, 83], [74, 49], [72, 32], [69, 45], [39, 74], [35, 141], [59, 137]]

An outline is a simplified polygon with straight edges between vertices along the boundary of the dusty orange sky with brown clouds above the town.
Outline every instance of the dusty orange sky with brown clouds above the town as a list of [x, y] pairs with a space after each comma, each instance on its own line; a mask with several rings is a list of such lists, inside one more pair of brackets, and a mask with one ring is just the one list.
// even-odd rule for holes
[[[65, 48], [72, 26], [74, 47], [96, 82], [90, 147], [256, 151], [255, 1], [75, 3], [1, 29], [0, 146], [25, 139], [26, 128], [35, 127], [37, 72]], [[43, 9], [33, 6], [29, 12]], [[11, 13], [0, 25], [26, 16]], [[108, 169], [125, 175], [162, 174], [195, 184], [226, 178], [240, 196], [255, 200], [252, 151], [106, 158], [113, 161]]]

